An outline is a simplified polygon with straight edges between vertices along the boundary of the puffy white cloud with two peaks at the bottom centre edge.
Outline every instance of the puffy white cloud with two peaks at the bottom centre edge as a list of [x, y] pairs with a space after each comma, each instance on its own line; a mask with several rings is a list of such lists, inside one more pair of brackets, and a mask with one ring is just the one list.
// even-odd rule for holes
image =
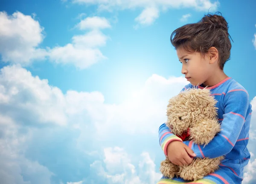
[[106, 170], [101, 161], [91, 164], [91, 169], [109, 184], [155, 184], [161, 178], [161, 174], [155, 171], [154, 161], [148, 152], [140, 155], [142, 160], [138, 164], [138, 171], [132, 164], [131, 156], [122, 148], [105, 148], [104, 153]]

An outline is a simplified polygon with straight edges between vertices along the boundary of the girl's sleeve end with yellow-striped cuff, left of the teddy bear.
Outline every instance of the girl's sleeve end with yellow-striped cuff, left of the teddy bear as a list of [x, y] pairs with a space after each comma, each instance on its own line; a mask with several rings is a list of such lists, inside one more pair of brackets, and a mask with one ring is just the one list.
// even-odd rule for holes
[[170, 129], [166, 126], [165, 123], [159, 127], [158, 135], [159, 135], [159, 144], [166, 156], [167, 156], [167, 146], [170, 142], [172, 141], [183, 142], [181, 138], [177, 137], [170, 131]]

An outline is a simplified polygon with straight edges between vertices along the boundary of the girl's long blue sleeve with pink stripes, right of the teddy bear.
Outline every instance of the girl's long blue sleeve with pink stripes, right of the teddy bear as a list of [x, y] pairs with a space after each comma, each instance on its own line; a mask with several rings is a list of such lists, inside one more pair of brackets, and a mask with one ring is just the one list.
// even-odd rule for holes
[[[192, 143], [196, 157], [216, 158], [229, 153], [236, 141], [247, 115], [251, 112], [249, 96], [245, 90], [231, 90], [224, 97], [224, 115], [219, 132], [205, 147]], [[184, 141], [189, 146], [190, 141]], [[191, 146], [191, 142], [190, 142]]]

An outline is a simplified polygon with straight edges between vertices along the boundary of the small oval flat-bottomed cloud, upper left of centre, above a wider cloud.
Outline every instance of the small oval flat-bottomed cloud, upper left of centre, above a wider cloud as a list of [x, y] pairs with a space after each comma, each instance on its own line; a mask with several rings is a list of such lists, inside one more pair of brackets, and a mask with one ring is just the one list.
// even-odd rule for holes
[[84, 20], [81, 20], [77, 27], [81, 30], [106, 29], [111, 28], [111, 25], [105, 17], [87, 17]]

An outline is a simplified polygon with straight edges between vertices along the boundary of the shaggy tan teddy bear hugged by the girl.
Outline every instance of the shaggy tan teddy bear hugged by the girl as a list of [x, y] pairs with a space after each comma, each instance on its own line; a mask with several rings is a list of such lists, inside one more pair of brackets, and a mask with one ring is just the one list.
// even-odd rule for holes
[[[183, 141], [191, 140], [195, 144], [207, 145], [221, 131], [216, 103], [217, 101], [207, 88], [186, 89], [169, 100], [166, 126]], [[223, 159], [224, 156], [195, 157], [191, 164], [177, 166], [172, 164], [166, 156], [160, 164], [160, 172], [170, 179], [176, 176], [187, 181], [197, 181], [218, 170]]]

